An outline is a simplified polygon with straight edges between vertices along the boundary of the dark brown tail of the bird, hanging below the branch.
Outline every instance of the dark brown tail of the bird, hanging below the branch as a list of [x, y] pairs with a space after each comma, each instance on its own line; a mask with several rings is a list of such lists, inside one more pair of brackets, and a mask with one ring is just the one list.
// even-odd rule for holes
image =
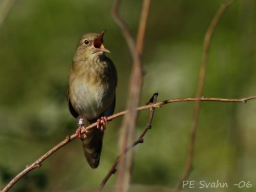
[[[88, 126], [88, 125], [87, 125]], [[96, 127], [88, 131], [87, 137], [82, 136], [85, 158], [91, 168], [97, 168], [100, 164], [101, 148], [103, 145], [104, 131]]]

